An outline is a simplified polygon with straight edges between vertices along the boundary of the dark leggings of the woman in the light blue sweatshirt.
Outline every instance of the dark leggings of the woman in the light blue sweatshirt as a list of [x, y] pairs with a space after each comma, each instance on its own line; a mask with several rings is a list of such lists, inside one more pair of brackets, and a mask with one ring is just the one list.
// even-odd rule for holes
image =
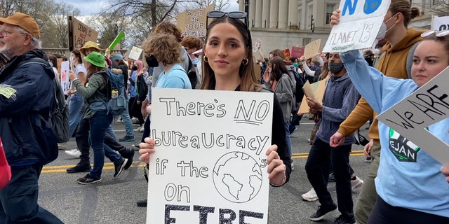
[[[413, 197], [413, 196], [410, 196]], [[448, 224], [449, 217], [436, 216], [434, 214], [424, 213], [422, 211], [416, 211], [412, 209], [406, 209], [403, 207], [394, 207], [382, 200], [377, 195], [377, 201], [374, 205], [373, 211], [371, 211], [368, 224]]]

